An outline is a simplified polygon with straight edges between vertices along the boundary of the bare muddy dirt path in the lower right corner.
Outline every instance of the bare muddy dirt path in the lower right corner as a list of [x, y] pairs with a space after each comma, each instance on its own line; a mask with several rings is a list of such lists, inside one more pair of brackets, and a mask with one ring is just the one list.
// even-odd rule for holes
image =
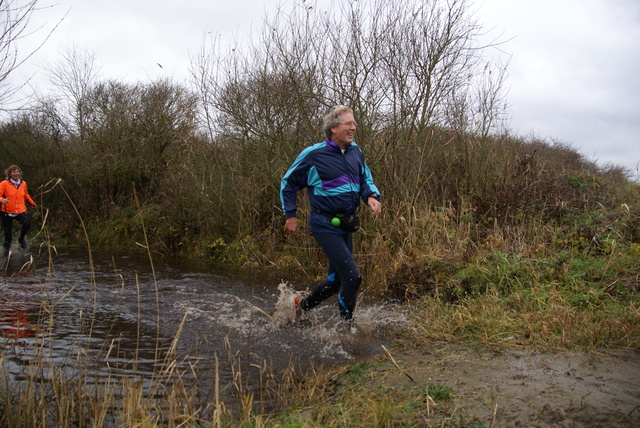
[[[415, 382], [396, 370], [378, 378], [380, 384], [451, 388], [451, 420], [463, 416], [487, 427], [640, 427], [638, 351], [492, 353], [443, 345], [394, 357]], [[425, 416], [425, 426], [437, 422]]]

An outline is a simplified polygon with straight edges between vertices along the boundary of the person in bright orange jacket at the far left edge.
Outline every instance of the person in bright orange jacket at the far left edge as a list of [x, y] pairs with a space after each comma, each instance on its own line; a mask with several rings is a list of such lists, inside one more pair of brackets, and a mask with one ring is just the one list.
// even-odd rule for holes
[[0, 197], [2, 198], [2, 228], [4, 229], [4, 248], [9, 251], [13, 239], [13, 221], [17, 220], [22, 225], [20, 229], [20, 247], [27, 248], [25, 237], [31, 229], [31, 220], [27, 215], [25, 203], [36, 206], [29, 191], [27, 183], [20, 178], [22, 171], [17, 165], [11, 165], [4, 172], [6, 180], [0, 182]]

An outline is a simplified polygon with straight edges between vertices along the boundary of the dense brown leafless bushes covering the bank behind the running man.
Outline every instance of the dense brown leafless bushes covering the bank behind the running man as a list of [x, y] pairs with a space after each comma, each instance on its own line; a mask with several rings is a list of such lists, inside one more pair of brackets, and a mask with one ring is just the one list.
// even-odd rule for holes
[[204, 46], [191, 87], [97, 81], [68, 55], [87, 73], [59, 72], [62, 95], [2, 123], [0, 159], [23, 168], [54, 240], [83, 239], [83, 219], [94, 245], [134, 245], [144, 224], [157, 251], [283, 267], [315, 244], [284, 235], [280, 179], [347, 103], [383, 194], [357, 236], [377, 286], [483, 249], [638, 243], [624, 170], [504, 130], [504, 69], [482, 56], [466, 2], [360, 3], [281, 10], [249, 46]]

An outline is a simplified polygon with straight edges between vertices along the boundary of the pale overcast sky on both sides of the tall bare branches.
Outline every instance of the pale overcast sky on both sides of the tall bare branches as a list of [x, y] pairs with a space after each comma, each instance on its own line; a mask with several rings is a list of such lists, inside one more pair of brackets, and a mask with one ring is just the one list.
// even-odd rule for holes
[[[32, 25], [66, 16], [14, 78], [41, 73], [38, 63], [75, 45], [97, 53], [103, 78], [181, 81], [207, 31], [229, 41], [247, 37], [292, 1], [301, 0], [41, 0], [53, 6], [36, 12]], [[512, 133], [568, 143], [637, 174], [640, 1], [476, 0], [472, 9], [492, 36], [508, 40]]]

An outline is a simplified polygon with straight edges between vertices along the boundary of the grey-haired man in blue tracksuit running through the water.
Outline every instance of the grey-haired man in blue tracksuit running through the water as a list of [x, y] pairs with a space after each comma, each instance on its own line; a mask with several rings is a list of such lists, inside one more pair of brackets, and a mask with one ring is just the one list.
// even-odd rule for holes
[[353, 257], [353, 232], [359, 228], [356, 209], [360, 200], [371, 208], [374, 217], [382, 209], [380, 192], [362, 151], [353, 141], [356, 125], [349, 107], [334, 107], [323, 121], [327, 139], [303, 150], [282, 179], [280, 199], [286, 229], [295, 233], [300, 226], [296, 196], [306, 187], [311, 205], [309, 228], [329, 259], [327, 279], [308, 296], [293, 298], [296, 316], [337, 293], [341, 318], [353, 319], [362, 282]]

